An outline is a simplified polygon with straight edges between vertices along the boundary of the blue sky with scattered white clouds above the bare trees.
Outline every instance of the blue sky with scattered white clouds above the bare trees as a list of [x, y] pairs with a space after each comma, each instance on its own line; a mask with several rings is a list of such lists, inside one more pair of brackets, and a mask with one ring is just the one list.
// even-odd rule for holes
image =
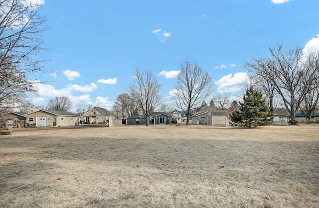
[[243, 64], [269, 57], [269, 46], [319, 49], [318, 8], [318, 0], [46, 0], [48, 73], [34, 77], [46, 83], [29, 100], [67, 96], [73, 111], [110, 110], [138, 68], [157, 75], [169, 103], [186, 60], [209, 73], [215, 93], [240, 95]]

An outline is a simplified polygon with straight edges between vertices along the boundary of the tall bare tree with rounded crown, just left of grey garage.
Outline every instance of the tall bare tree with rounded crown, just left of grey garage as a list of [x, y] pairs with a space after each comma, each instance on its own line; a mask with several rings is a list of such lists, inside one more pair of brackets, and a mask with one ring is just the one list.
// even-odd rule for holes
[[192, 64], [185, 61], [180, 64], [174, 104], [187, 115], [186, 125], [189, 124], [191, 109], [212, 93], [211, 87], [211, 77], [196, 62]]

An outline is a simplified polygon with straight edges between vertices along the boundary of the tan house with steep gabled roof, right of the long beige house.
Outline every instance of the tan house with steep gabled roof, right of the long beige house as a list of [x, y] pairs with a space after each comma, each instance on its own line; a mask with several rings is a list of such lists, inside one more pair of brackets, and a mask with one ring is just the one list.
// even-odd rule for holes
[[102, 107], [93, 107], [82, 115], [81, 123], [109, 123], [111, 119], [115, 119], [109, 110]]

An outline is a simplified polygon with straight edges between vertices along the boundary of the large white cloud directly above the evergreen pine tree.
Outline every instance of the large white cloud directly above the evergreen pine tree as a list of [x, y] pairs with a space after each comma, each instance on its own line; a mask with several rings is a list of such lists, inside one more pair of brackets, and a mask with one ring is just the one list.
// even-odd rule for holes
[[223, 93], [234, 93], [241, 90], [241, 86], [249, 81], [249, 76], [246, 72], [238, 72], [223, 76], [220, 80], [215, 82], [218, 85], [218, 91]]

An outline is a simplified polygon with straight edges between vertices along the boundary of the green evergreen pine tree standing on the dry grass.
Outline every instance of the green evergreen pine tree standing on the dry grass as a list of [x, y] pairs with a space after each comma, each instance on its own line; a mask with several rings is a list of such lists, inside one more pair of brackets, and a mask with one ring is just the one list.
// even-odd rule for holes
[[232, 126], [257, 127], [270, 125], [273, 120], [273, 113], [266, 104], [261, 92], [250, 87], [244, 95], [244, 103], [239, 102], [239, 110], [233, 111], [230, 115]]

